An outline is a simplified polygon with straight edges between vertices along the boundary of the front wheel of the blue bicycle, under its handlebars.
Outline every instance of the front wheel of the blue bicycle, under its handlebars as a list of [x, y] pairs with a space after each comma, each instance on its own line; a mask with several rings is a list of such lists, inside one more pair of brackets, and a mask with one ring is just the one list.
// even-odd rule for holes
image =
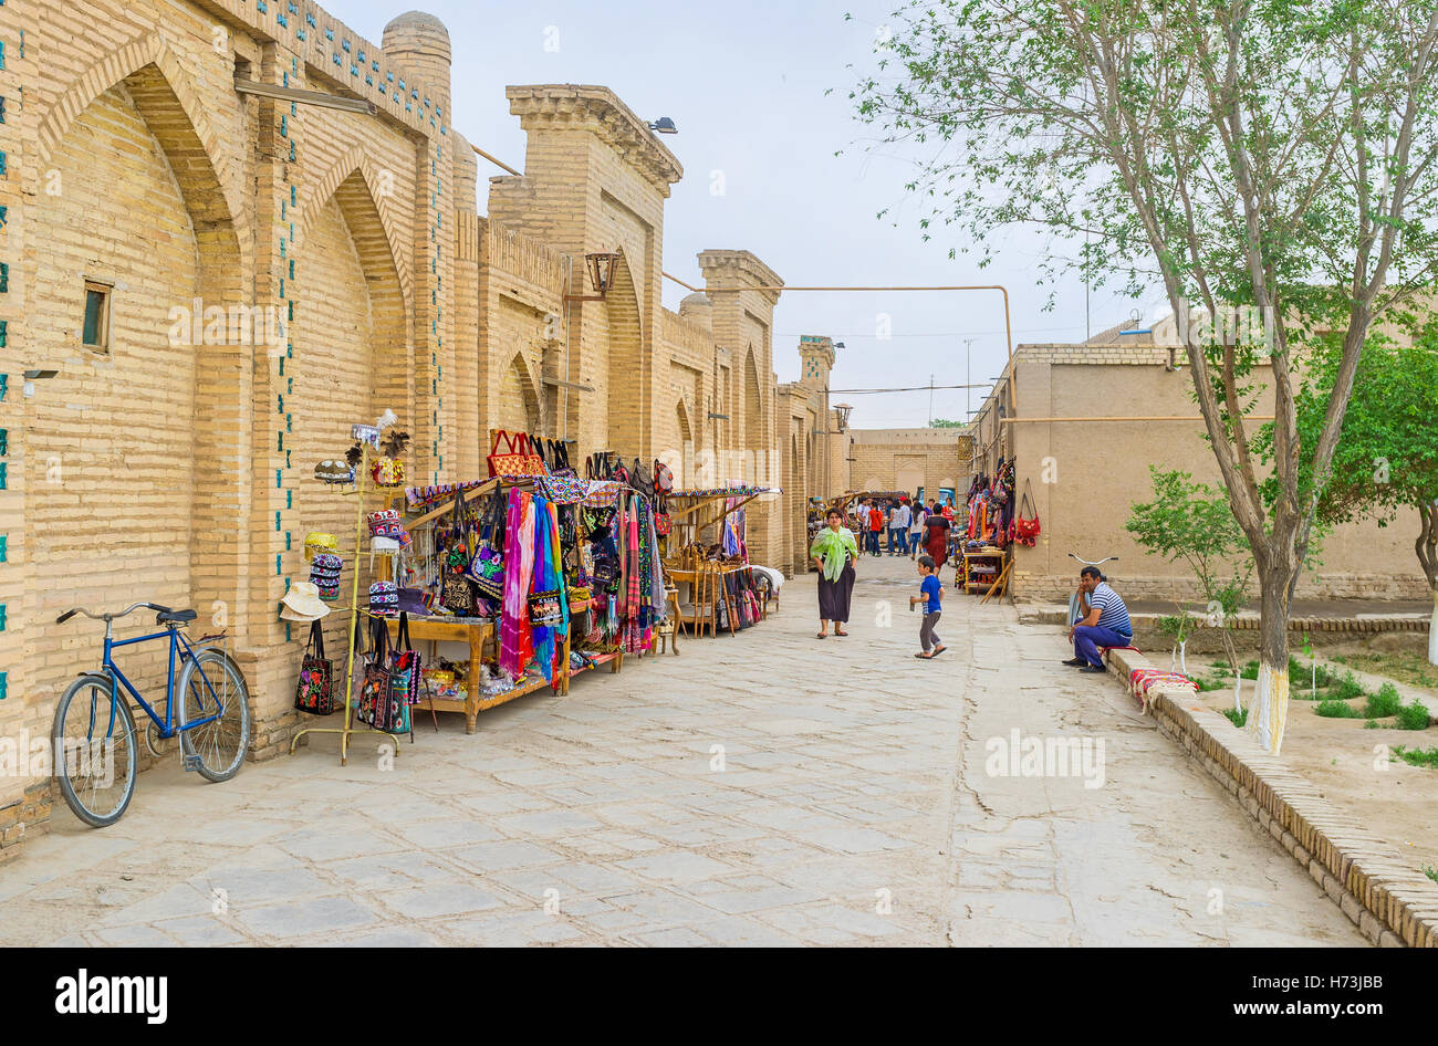
[[135, 717], [124, 694], [114, 697], [111, 680], [82, 675], [55, 707], [50, 744], [60, 795], [91, 828], [114, 825], [135, 795]]

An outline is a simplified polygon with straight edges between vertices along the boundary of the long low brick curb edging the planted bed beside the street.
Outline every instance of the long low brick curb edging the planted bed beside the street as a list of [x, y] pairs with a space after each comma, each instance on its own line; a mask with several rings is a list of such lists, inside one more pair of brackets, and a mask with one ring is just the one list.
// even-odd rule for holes
[[[1156, 667], [1133, 651], [1109, 654], [1109, 671], [1125, 684], [1135, 668]], [[1403, 865], [1357, 816], [1320, 797], [1281, 756], [1264, 753], [1186, 687], [1156, 685], [1149, 695], [1159, 728], [1283, 843], [1369, 941], [1438, 948], [1438, 884]]]

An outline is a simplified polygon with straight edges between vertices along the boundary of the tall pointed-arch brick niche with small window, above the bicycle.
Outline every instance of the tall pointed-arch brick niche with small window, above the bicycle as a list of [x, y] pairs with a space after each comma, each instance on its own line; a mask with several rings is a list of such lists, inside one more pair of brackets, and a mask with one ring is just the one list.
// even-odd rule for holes
[[[196, 606], [206, 622], [223, 614], [243, 642], [246, 418], [269, 325], [244, 307], [246, 237], [177, 73], [157, 40], [131, 46], [42, 116], [46, 177], [29, 211], [26, 307], [40, 358], [60, 376], [27, 420], [26, 513], [42, 592], [30, 611], [53, 621], [85, 562], [88, 605]], [[86, 333], [92, 293], [108, 322]], [[43, 678], [47, 667], [69, 664], [62, 635], [73, 628], [35, 629], [37, 694], [60, 681]], [[145, 652], [127, 664], [142, 687], [162, 668]]]

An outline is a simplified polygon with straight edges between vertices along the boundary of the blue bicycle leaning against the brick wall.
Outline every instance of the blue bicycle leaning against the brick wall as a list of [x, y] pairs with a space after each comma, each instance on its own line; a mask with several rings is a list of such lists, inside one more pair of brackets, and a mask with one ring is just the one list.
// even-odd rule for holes
[[[115, 639], [114, 622], [141, 608], [155, 611], [155, 624], [164, 625], [164, 631]], [[135, 603], [118, 614], [75, 608], [55, 624], [63, 625], [76, 614], [105, 622], [105, 655], [99, 671], [86, 672], [69, 685], [55, 708], [50, 730], [55, 776], [76, 818], [93, 828], [114, 825], [135, 793], [135, 717], [121, 687], [150, 717], [145, 747], [151, 754], [158, 757], [160, 741], [178, 736], [186, 770], [196, 770], [211, 782], [239, 773], [250, 744], [249, 688], [234, 659], [224, 649], [206, 645], [219, 637], [206, 637], [191, 645], [180, 631], [196, 619], [194, 611], [173, 611], [157, 603]], [[157, 639], [170, 642], [164, 718], [145, 703], [114, 659], [116, 647]]]

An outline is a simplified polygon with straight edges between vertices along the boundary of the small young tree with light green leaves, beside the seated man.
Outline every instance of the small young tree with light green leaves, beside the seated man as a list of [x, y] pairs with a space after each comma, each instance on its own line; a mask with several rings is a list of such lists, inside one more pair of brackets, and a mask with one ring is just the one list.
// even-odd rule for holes
[[[1162, 471], [1149, 466], [1153, 500], [1133, 504], [1125, 529], [1149, 555], [1183, 562], [1194, 572], [1199, 595], [1206, 603], [1202, 619], [1222, 629], [1219, 637], [1228, 667], [1238, 674], [1232, 621], [1242, 605], [1252, 578], [1252, 556], [1238, 527], [1228, 496], [1206, 483], [1195, 483], [1189, 473]], [[1188, 638], [1189, 612], [1179, 606], [1173, 635]]]

